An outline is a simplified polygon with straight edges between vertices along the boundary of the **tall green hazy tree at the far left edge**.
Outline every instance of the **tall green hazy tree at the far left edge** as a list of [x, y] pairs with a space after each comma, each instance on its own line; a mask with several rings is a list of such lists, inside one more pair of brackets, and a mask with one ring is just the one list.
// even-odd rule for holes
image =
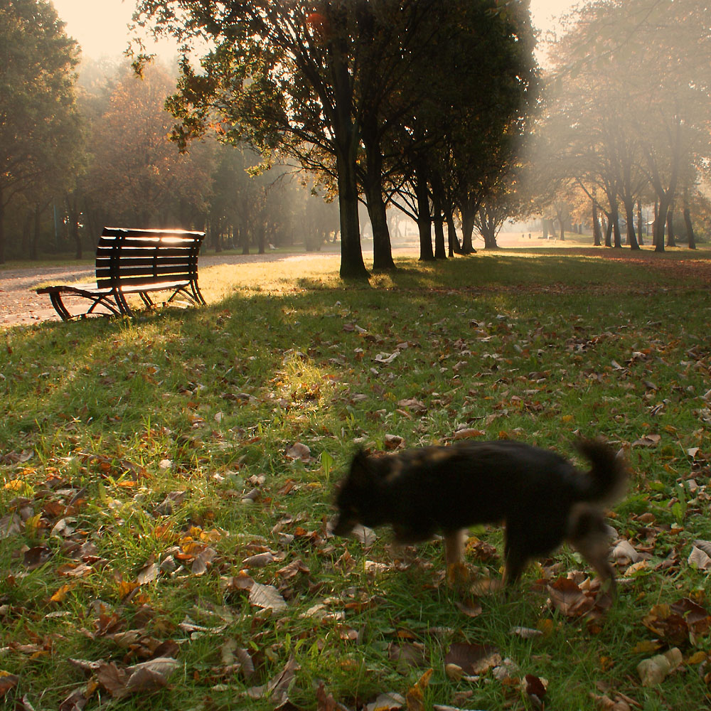
[[5, 210], [35, 186], [62, 192], [80, 148], [75, 101], [78, 47], [45, 0], [0, 5], [0, 263]]

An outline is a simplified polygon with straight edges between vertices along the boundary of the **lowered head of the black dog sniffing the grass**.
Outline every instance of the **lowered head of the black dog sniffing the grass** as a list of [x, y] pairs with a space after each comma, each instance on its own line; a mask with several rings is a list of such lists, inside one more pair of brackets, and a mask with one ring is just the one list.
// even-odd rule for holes
[[331, 523], [335, 535], [348, 535], [359, 523], [377, 525], [374, 520], [377, 508], [378, 475], [370, 458], [358, 451], [351, 462], [351, 469], [338, 486], [336, 507], [338, 513]]

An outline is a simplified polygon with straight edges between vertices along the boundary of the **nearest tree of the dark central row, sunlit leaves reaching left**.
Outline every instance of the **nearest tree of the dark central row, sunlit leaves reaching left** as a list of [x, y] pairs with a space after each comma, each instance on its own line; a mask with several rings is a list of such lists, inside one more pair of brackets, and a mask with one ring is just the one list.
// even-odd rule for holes
[[213, 48], [196, 72], [181, 62], [171, 109], [178, 139], [218, 127], [225, 141], [248, 134], [262, 149], [299, 156], [304, 146], [333, 155], [341, 208], [341, 276], [367, 277], [360, 250], [356, 160], [360, 144], [355, 102], [356, 49], [367, 4], [347, 0], [217, 4], [202, 0], [140, 0], [142, 26]]

